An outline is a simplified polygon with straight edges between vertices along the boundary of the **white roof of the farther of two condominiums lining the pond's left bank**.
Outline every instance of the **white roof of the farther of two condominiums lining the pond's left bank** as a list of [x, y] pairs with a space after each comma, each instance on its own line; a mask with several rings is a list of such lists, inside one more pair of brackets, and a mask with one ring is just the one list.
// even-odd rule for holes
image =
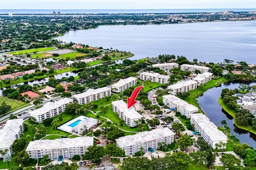
[[179, 107], [182, 107], [186, 111], [189, 111], [189, 112], [198, 111], [198, 108], [196, 106], [190, 105], [189, 103], [187, 103], [187, 101], [184, 101], [176, 96], [165, 95], [165, 96], [163, 96], [163, 98], [171, 100], [172, 103], [174, 103], [175, 105], [178, 105]]

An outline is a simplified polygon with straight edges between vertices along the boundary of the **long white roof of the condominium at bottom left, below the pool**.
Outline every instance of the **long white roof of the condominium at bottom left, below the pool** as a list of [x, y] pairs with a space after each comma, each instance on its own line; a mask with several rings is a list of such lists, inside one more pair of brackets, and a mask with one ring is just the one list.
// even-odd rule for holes
[[26, 151], [67, 149], [93, 146], [93, 137], [60, 138], [55, 140], [36, 140], [28, 144]]

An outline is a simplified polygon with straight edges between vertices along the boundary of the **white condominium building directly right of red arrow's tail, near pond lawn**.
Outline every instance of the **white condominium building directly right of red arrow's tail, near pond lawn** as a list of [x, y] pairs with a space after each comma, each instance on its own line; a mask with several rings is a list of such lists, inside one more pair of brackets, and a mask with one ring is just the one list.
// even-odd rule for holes
[[180, 92], [187, 92], [190, 90], [194, 90], [196, 88], [197, 88], [197, 81], [194, 81], [194, 80], [181, 81], [167, 87], [167, 89], [170, 90], [169, 94], [171, 95], [177, 95]]

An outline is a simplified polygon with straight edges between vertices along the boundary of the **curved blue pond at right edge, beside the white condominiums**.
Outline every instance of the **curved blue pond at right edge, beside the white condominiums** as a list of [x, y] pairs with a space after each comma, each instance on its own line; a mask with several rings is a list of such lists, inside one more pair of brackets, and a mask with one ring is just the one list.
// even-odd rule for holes
[[[229, 83], [221, 84], [220, 87], [212, 88], [204, 93], [203, 96], [198, 98], [199, 106], [201, 106], [202, 111], [210, 118], [210, 120], [218, 125], [221, 125], [222, 120], [226, 120], [229, 128], [231, 129], [230, 134], [235, 134], [237, 138], [240, 139], [241, 143], [248, 143], [250, 146], [256, 148], [256, 135], [249, 133], [247, 131], [238, 129], [233, 123], [233, 117], [222, 110], [218, 103], [218, 98], [221, 95], [221, 91], [224, 88], [235, 89], [244, 83]], [[246, 84], [255, 85], [256, 83]]]

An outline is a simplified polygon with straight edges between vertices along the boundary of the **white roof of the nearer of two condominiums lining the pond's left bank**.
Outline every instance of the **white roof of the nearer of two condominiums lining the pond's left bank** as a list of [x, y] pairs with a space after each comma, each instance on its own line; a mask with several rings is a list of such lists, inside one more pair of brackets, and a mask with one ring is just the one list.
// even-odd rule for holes
[[204, 114], [191, 114], [190, 118], [197, 122], [197, 124], [212, 141], [228, 140], [227, 136], [223, 132], [219, 131], [218, 127]]

